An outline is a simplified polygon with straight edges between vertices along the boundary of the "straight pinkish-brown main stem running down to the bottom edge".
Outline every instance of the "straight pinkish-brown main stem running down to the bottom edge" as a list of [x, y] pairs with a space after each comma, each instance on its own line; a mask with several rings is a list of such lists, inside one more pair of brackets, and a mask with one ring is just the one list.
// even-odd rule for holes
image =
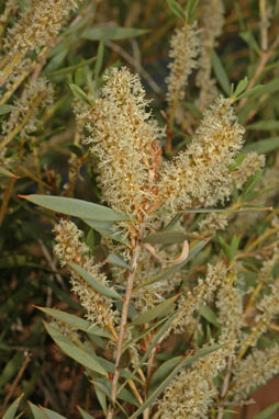
[[132, 269], [133, 272], [131, 272], [127, 276], [127, 284], [126, 284], [126, 293], [123, 302], [123, 308], [122, 308], [122, 316], [121, 316], [121, 322], [120, 322], [120, 331], [119, 331], [119, 338], [116, 342], [116, 355], [115, 355], [115, 363], [114, 363], [114, 376], [112, 380], [111, 385], [111, 405], [109, 407], [108, 417], [107, 419], [113, 419], [113, 412], [114, 412], [114, 406], [118, 396], [118, 383], [119, 383], [119, 376], [120, 376], [120, 359], [122, 355], [122, 348], [123, 348], [123, 341], [124, 341], [124, 335], [125, 335], [125, 326], [127, 322], [127, 310], [130, 301], [133, 293], [133, 284], [134, 284], [134, 278], [135, 272], [138, 263], [138, 258], [141, 253], [141, 245], [138, 242], [138, 239], [136, 240], [135, 248], [133, 249], [133, 256], [132, 256]]

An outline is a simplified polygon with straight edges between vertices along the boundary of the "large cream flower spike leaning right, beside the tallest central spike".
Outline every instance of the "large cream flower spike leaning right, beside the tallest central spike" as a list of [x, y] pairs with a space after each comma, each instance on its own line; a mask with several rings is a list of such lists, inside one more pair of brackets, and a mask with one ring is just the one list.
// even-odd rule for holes
[[231, 101], [217, 99], [204, 112], [190, 146], [163, 168], [161, 201], [174, 211], [223, 202], [231, 193], [228, 167], [242, 148], [243, 134]]

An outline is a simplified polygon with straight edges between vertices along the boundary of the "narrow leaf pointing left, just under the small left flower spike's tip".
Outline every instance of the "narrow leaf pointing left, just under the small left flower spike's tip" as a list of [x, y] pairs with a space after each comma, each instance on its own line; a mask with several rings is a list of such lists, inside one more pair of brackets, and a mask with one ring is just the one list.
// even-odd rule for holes
[[56, 318], [57, 320], [66, 322], [67, 325], [74, 327], [75, 329], [85, 331], [86, 333], [101, 336], [103, 338], [109, 338], [109, 339], [112, 338], [109, 331], [102, 330], [100, 327], [93, 326], [90, 321], [85, 320], [83, 318], [80, 318], [78, 316], [71, 315], [69, 313], [60, 312], [56, 308], [46, 308], [46, 307], [36, 307], [36, 308], [47, 314], [48, 316]]

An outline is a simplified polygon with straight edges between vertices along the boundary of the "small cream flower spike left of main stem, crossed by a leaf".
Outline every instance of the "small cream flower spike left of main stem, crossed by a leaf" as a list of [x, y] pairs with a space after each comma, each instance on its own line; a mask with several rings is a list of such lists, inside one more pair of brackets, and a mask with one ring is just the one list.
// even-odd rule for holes
[[[54, 253], [59, 258], [62, 265], [69, 262], [81, 264], [102, 285], [107, 284], [107, 278], [100, 272], [100, 265], [88, 256], [89, 248], [81, 242], [83, 233], [77, 226], [68, 220], [60, 220], [56, 224], [57, 245], [54, 247]], [[101, 327], [111, 327], [118, 321], [118, 312], [112, 309], [111, 301], [97, 293], [82, 278], [71, 271], [72, 292], [78, 295], [82, 307], [87, 310], [87, 318], [93, 325]]]

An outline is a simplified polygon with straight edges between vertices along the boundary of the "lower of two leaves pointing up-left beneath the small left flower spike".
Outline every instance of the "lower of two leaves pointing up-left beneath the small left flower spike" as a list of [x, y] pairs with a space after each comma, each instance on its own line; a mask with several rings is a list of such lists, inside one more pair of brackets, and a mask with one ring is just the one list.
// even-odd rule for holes
[[55, 343], [62, 349], [63, 352], [66, 353], [66, 355], [72, 358], [72, 360], [77, 361], [79, 364], [86, 366], [89, 370], [96, 371], [101, 375], [108, 375], [107, 371], [96, 360], [96, 358], [89, 355], [88, 352], [83, 351], [77, 344], [72, 343], [66, 336], [64, 336], [58, 329], [56, 329], [52, 325], [47, 325], [45, 321], [44, 325]]

